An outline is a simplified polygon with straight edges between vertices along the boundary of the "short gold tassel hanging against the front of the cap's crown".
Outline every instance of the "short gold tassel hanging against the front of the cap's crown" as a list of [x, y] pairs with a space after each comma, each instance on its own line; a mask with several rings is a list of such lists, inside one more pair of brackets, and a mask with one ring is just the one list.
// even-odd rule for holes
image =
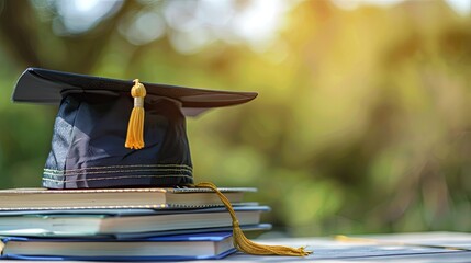
[[146, 88], [138, 79], [134, 80], [131, 95], [134, 98], [134, 108], [131, 112], [124, 147], [142, 149], [144, 148], [144, 98], [146, 96]]

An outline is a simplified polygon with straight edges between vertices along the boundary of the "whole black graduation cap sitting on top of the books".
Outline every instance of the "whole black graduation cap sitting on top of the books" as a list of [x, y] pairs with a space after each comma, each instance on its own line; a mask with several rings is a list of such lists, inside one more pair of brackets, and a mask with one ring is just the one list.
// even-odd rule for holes
[[[255, 92], [142, 84], [138, 80], [133, 83], [38, 68], [23, 72], [13, 92], [13, 101], [60, 103], [43, 173], [44, 187], [192, 184], [184, 116], [212, 107], [242, 104], [257, 96]], [[137, 96], [134, 103], [131, 95], [133, 85], [133, 95]], [[137, 94], [135, 88], [144, 87], [144, 92]], [[134, 111], [143, 106], [145, 115], [134, 116]], [[138, 116], [143, 119], [139, 121]], [[134, 127], [135, 124], [131, 124], [133, 118], [144, 124], [144, 129]], [[145, 146], [142, 149], [143, 145], [136, 147], [133, 141], [127, 147], [135, 149], [124, 147], [128, 129], [135, 129], [130, 133], [131, 137], [133, 133], [144, 134]]]

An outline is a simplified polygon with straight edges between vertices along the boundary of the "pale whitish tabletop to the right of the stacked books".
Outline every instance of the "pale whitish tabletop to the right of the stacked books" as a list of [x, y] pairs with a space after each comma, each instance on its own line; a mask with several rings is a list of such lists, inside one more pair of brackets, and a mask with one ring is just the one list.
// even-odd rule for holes
[[305, 245], [314, 253], [305, 258], [296, 258], [248, 255], [238, 252], [223, 260], [194, 262], [471, 262], [471, 233], [462, 232], [371, 235], [349, 237], [349, 239], [282, 238], [256, 241], [266, 244]]

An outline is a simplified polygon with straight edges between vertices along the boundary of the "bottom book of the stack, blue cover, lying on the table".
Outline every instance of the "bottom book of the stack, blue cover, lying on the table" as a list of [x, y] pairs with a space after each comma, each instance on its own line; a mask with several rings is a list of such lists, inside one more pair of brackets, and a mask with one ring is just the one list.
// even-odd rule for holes
[[1, 256], [14, 260], [161, 261], [221, 259], [235, 252], [232, 232], [177, 235], [130, 240], [7, 237]]

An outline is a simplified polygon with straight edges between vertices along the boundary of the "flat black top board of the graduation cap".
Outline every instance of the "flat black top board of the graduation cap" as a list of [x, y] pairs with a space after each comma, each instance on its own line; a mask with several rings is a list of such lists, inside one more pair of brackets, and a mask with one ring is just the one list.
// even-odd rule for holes
[[[138, 76], [136, 76], [138, 77]], [[256, 92], [231, 92], [142, 82], [150, 95], [179, 101], [183, 108], [211, 108], [249, 102]], [[63, 93], [123, 92], [128, 94], [132, 80], [117, 80], [87, 75], [27, 68], [16, 82], [12, 100], [41, 104], [58, 104]], [[191, 115], [191, 114], [190, 114]]]

